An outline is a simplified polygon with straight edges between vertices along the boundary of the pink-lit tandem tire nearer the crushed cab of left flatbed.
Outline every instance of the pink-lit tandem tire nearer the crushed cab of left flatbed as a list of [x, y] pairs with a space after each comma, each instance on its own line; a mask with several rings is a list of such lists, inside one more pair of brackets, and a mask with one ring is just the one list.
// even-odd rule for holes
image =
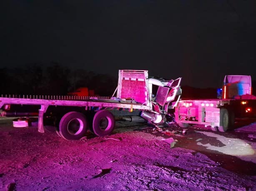
[[108, 110], [100, 110], [93, 117], [93, 132], [100, 137], [110, 135], [115, 127], [114, 115]]

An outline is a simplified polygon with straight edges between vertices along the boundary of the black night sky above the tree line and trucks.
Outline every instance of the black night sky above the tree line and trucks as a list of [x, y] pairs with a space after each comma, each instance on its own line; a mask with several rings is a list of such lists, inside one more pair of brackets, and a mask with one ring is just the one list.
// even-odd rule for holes
[[256, 80], [255, 0], [5, 0], [1, 12], [1, 68], [142, 69], [201, 88]]

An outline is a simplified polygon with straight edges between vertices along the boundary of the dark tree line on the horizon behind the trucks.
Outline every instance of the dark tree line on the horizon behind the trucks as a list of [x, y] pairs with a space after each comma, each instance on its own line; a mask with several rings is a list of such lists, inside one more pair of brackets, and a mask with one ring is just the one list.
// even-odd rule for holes
[[[0, 96], [3, 95], [54, 95], [65, 96], [78, 88], [86, 87], [98, 96], [111, 96], [118, 84], [118, 76], [99, 74], [82, 69], [70, 69], [58, 63], [42, 67], [38, 64], [27, 64], [25, 67], [1, 69]], [[252, 82], [253, 90], [256, 81]], [[183, 84], [183, 98], [217, 98], [217, 88], [202, 88]], [[156, 87], [155, 91], [157, 90]], [[156, 92], [154, 92], [156, 93]], [[255, 95], [255, 91], [253, 91]]]

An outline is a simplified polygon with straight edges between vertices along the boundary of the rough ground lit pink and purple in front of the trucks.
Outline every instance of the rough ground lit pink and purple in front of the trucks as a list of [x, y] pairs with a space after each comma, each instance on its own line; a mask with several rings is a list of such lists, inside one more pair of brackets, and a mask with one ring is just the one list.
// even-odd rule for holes
[[0, 119], [0, 190], [256, 190], [256, 122], [225, 133], [116, 122], [78, 141]]

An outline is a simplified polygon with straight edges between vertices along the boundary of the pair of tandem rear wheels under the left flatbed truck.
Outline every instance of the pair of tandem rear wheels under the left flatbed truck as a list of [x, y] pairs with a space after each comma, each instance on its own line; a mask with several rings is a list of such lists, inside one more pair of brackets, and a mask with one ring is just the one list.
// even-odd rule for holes
[[[66, 140], [79, 140], [85, 136], [88, 127], [88, 119], [83, 113], [68, 112], [60, 120], [57, 134]], [[108, 110], [99, 110], [93, 117], [92, 130], [95, 135], [109, 135], [115, 127], [115, 118]]]

